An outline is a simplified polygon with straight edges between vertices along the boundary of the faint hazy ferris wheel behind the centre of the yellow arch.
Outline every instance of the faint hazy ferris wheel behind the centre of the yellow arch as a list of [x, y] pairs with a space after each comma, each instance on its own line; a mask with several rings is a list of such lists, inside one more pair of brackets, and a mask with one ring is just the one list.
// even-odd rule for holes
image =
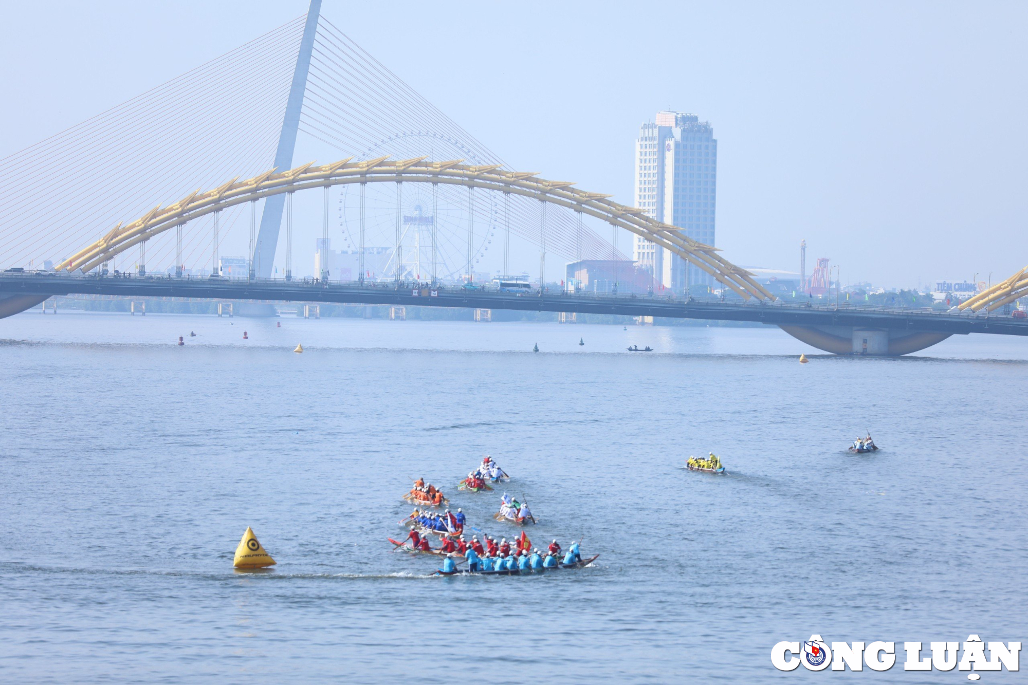
[[[401, 133], [368, 147], [359, 159], [465, 159], [484, 164], [466, 145], [441, 134]], [[365, 279], [474, 280], [502, 223], [495, 192], [443, 183], [365, 183], [341, 186], [339, 229], [347, 251], [363, 256]]]

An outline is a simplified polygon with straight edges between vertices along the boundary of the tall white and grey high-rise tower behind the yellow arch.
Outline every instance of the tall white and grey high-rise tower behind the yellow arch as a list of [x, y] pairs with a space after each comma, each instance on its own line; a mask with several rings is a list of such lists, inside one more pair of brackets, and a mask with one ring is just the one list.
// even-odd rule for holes
[[[718, 141], [708, 121], [695, 114], [657, 112], [644, 123], [635, 141], [635, 206], [649, 216], [680, 226], [690, 238], [714, 244], [718, 190]], [[675, 291], [686, 285], [712, 285], [702, 269], [682, 257], [636, 237], [637, 266], [659, 286]]]

